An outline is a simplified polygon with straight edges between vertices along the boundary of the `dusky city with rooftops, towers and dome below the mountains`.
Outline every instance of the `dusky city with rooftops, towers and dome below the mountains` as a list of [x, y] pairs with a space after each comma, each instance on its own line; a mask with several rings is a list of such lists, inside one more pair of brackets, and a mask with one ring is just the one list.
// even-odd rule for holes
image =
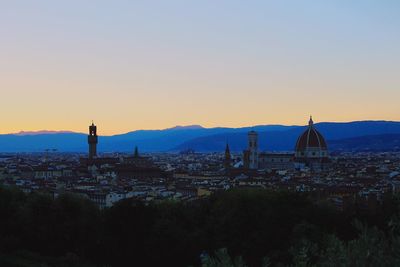
[[[83, 142], [83, 140], [82, 140]], [[88, 152], [3, 154], [0, 183], [26, 193], [56, 198], [73, 193], [99, 208], [120, 200], [144, 202], [174, 199], [195, 201], [233, 188], [261, 188], [307, 192], [329, 201], [338, 210], [380, 208], [385, 197], [400, 190], [400, 151], [330, 153], [325, 138], [310, 117], [293, 152], [259, 149], [256, 131], [248, 132], [247, 149], [196, 153], [97, 152], [97, 126], [89, 126]]]

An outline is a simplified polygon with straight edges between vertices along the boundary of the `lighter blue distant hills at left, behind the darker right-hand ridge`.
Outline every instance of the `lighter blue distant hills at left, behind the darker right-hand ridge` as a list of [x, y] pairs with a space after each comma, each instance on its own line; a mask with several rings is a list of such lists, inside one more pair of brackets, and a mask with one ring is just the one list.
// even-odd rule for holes
[[[133, 152], [137, 145], [142, 152], [171, 151], [183, 142], [222, 133], [257, 131], [285, 131], [297, 126], [260, 125], [243, 128], [203, 128], [199, 125], [177, 126], [165, 130], [138, 130], [113, 136], [99, 136], [100, 152]], [[101, 127], [98, 129], [101, 133]], [[29, 134], [0, 135], [0, 152], [42, 152], [57, 149], [60, 152], [86, 152], [87, 136], [82, 133], [53, 131]]]

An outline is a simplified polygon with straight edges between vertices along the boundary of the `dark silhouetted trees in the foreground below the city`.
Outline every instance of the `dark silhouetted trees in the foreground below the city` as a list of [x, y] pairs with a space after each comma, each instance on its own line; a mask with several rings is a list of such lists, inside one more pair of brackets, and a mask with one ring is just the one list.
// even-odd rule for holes
[[396, 199], [368, 216], [256, 189], [99, 210], [72, 195], [0, 188], [0, 266], [357, 266], [367, 256], [389, 264], [400, 255], [397, 212]]

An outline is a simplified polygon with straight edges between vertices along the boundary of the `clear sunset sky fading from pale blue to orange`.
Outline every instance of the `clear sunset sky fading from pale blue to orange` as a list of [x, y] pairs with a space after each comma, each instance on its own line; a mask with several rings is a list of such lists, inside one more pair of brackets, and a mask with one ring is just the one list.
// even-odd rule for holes
[[400, 1], [0, 2], [0, 133], [400, 120]]

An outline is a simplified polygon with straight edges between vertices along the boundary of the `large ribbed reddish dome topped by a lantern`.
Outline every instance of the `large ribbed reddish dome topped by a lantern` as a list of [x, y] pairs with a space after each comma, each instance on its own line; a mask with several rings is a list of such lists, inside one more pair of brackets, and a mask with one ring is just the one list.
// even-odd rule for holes
[[310, 118], [308, 129], [300, 135], [296, 143], [296, 152], [307, 150], [328, 150], [325, 138], [315, 129], [312, 118]]

